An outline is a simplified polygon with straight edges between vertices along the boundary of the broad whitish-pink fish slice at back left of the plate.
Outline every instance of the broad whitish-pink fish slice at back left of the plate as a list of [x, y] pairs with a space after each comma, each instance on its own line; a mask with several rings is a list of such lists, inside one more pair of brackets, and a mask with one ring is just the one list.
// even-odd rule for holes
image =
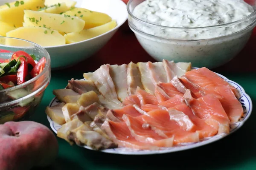
[[85, 79], [90, 79], [96, 85], [98, 91], [110, 102], [120, 104], [117, 98], [115, 85], [109, 73], [109, 64], [100, 66], [93, 74], [84, 74]]

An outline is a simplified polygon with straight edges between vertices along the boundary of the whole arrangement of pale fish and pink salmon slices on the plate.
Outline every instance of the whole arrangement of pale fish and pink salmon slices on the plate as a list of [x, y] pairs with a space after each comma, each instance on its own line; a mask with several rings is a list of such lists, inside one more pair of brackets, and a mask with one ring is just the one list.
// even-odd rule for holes
[[131, 62], [102, 65], [84, 79], [54, 90], [47, 115], [57, 136], [95, 150], [159, 150], [230, 133], [243, 108], [236, 88], [191, 63]]

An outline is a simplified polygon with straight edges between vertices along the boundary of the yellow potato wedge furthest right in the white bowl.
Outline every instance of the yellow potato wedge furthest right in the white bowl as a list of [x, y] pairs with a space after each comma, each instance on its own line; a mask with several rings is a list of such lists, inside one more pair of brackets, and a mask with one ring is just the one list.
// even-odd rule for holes
[[63, 13], [63, 15], [64, 14], [81, 17], [85, 21], [84, 29], [101, 26], [105, 23], [109, 23], [112, 20], [112, 18], [107, 14], [90, 11], [84, 8], [74, 8], [70, 11]]

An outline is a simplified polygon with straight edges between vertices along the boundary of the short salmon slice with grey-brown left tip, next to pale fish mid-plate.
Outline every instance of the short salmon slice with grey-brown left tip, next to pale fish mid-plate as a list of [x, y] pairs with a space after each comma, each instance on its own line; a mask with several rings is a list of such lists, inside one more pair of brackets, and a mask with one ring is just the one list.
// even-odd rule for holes
[[122, 121], [122, 116], [125, 114], [133, 117], [142, 115], [133, 107], [133, 105], [127, 105], [121, 109], [109, 110], [106, 117], [114, 122], [120, 122]]

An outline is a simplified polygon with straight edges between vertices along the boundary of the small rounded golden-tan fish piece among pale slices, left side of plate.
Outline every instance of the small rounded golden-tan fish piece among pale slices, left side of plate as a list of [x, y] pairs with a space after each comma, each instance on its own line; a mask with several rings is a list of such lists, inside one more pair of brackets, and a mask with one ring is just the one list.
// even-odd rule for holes
[[81, 94], [80, 98], [77, 100], [77, 105], [87, 107], [94, 102], [99, 102], [99, 97], [95, 91], [88, 91], [87, 93]]

